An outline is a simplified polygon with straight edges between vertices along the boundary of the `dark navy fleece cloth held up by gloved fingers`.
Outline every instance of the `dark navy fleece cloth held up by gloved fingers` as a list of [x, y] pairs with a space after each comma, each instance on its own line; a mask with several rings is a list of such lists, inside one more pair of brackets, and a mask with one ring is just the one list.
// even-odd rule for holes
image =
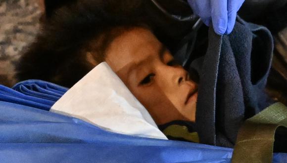
[[272, 104], [264, 92], [273, 39], [265, 27], [240, 18], [230, 35], [212, 27], [205, 56], [191, 62], [199, 73], [196, 130], [201, 143], [233, 147], [240, 125]]

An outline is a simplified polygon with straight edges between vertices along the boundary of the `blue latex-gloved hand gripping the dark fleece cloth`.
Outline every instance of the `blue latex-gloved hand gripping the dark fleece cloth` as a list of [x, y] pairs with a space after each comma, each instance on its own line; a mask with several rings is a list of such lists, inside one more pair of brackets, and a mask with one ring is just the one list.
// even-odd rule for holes
[[193, 13], [207, 26], [212, 25], [218, 35], [230, 34], [237, 11], [244, 0], [188, 0]]

